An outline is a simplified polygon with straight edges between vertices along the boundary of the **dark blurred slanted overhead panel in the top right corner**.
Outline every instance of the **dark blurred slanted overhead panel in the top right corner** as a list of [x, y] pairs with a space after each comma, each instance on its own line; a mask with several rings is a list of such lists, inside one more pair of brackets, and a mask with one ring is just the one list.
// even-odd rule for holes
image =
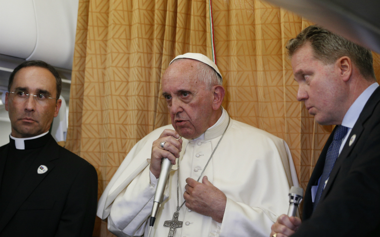
[[380, 53], [380, 0], [266, 0]]

